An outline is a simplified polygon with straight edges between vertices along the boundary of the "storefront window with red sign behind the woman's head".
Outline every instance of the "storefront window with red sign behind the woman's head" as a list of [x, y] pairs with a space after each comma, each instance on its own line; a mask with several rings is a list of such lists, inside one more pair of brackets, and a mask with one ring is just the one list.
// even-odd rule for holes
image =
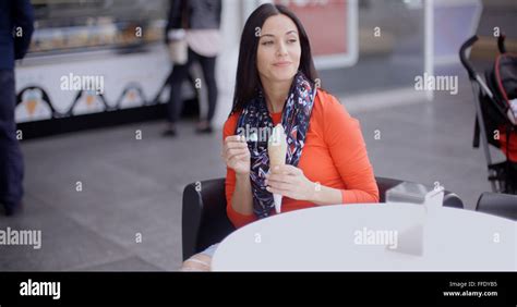
[[322, 85], [337, 96], [412, 87], [424, 72], [423, 0], [249, 2], [285, 4], [300, 17]]

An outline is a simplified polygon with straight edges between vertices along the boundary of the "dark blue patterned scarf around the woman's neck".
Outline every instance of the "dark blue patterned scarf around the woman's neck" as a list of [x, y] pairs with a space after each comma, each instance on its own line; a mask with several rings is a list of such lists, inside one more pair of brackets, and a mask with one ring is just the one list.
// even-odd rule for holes
[[[298, 72], [292, 82], [281, 115], [281, 125], [287, 135], [286, 164], [298, 165], [305, 143], [309, 121], [311, 119], [316, 88], [302, 72]], [[273, 120], [267, 110], [262, 91], [252, 99], [242, 110], [237, 123], [237, 132], [256, 131], [256, 137], [248, 137], [248, 148], [251, 154], [250, 180], [253, 194], [253, 211], [258, 219], [270, 214], [275, 202], [273, 194], [266, 191], [265, 175], [269, 171], [269, 157], [267, 155], [267, 139], [273, 131]], [[266, 133], [264, 133], [266, 132]], [[249, 134], [249, 133], [248, 133]]]

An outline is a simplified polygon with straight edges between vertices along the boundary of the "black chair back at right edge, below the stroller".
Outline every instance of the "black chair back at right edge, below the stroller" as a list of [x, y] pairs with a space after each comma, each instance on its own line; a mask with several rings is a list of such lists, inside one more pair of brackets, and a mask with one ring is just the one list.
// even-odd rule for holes
[[476, 211], [517, 221], [517, 195], [485, 192], [479, 197]]

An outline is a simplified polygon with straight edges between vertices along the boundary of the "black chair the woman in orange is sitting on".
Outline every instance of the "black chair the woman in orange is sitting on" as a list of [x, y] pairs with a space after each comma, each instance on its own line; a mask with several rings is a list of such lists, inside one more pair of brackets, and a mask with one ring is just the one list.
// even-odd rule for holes
[[[386, 201], [386, 191], [404, 181], [375, 177], [380, 201]], [[464, 208], [461, 199], [445, 191], [444, 206]], [[183, 191], [182, 209], [183, 260], [221, 242], [236, 230], [226, 213], [225, 179], [191, 183]]]

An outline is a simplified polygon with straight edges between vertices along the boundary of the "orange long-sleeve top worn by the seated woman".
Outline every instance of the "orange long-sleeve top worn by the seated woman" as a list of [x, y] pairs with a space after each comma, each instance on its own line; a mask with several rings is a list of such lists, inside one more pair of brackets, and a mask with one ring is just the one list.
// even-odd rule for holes
[[[226, 121], [223, 142], [236, 134], [241, 112], [235, 112]], [[274, 125], [281, 122], [281, 112], [270, 113]], [[309, 130], [298, 168], [308, 180], [341, 191], [342, 204], [378, 202], [378, 188], [366, 152], [359, 121], [350, 116], [345, 107], [328, 93], [320, 89], [314, 100]], [[236, 188], [236, 172], [227, 168], [227, 214], [236, 228], [255, 221], [255, 214], [237, 212], [231, 198]], [[281, 211], [315, 207], [304, 200], [284, 197]], [[273, 210], [273, 214], [275, 214]]]

